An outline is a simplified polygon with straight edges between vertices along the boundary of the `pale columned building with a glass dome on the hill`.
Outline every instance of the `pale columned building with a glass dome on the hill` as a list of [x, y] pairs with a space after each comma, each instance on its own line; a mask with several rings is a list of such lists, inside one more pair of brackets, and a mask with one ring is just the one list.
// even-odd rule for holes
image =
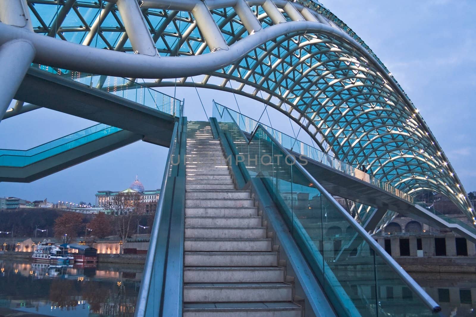
[[106, 213], [109, 211], [109, 208], [112, 209], [112, 204], [114, 202], [114, 196], [119, 193], [134, 193], [137, 192], [140, 194], [140, 202], [144, 206], [144, 211], [146, 213], [154, 212], [157, 209], [157, 202], [160, 197], [160, 189], [146, 191], [144, 185], [139, 181], [139, 176], [136, 175], [136, 180], [132, 182], [129, 188], [126, 188], [120, 192], [111, 192], [111, 191], [98, 191], [96, 193], [96, 206], [104, 208]]

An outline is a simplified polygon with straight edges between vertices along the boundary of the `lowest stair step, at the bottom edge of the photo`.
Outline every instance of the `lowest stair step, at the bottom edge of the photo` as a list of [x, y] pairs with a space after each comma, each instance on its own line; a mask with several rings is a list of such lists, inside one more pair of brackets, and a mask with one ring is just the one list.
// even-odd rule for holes
[[301, 317], [291, 302], [184, 303], [183, 317]]

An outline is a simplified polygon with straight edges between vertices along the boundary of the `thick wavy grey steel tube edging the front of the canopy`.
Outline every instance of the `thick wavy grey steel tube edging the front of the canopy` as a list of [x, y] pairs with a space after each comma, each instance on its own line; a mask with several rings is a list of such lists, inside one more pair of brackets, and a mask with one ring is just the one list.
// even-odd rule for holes
[[[241, 39], [229, 47], [211, 54], [189, 57], [152, 58], [147, 55], [124, 54], [123, 52], [91, 48], [0, 23], [0, 43], [14, 38], [25, 38], [36, 49], [35, 62], [53, 67], [66, 68], [99, 75], [132, 78], [175, 78], [206, 74], [228, 66], [243, 58], [249, 51], [272, 38], [293, 32], [315, 32], [337, 35], [354, 41], [344, 31], [322, 23], [291, 21], [271, 26]], [[364, 48], [361, 48], [365, 51]], [[366, 55], [369, 55], [367, 51]], [[120, 65], [121, 67], [118, 67]]]

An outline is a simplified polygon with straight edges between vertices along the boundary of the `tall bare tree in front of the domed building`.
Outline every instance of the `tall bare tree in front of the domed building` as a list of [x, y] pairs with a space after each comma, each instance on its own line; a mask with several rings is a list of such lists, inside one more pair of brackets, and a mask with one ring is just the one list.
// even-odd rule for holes
[[[114, 225], [120, 239], [125, 242], [132, 226], [141, 214], [145, 213], [144, 203], [139, 192], [120, 192], [109, 202], [109, 210], [114, 214]], [[122, 253], [122, 245], [120, 246]]]

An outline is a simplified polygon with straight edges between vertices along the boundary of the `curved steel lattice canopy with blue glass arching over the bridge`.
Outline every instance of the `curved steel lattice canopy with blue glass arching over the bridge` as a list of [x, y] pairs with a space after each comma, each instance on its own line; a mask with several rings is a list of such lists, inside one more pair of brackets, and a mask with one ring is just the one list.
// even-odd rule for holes
[[[2, 19], [0, 42], [31, 41], [37, 63], [154, 78], [148, 82], [153, 87], [197, 86], [248, 96], [291, 117], [322, 151], [365, 167], [401, 191], [443, 193], [469, 218], [476, 216], [446, 155], [397, 81], [353, 31], [318, 2], [27, 4], [25, 14], [31, 18], [25, 25]], [[51, 39], [38, 39], [38, 34]], [[202, 78], [192, 82], [191, 76]], [[170, 77], [178, 78], [165, 79]]]

